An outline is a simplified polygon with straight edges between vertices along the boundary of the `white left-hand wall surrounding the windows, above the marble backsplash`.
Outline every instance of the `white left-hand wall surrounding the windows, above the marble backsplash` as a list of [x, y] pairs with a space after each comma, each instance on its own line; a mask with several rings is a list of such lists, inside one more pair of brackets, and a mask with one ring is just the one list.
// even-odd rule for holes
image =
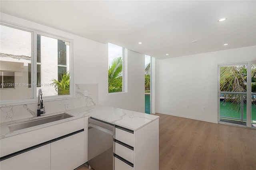
[[128, 91], [108, 94], [108, 44], [1, 13], [2, 22], [41, 30], [74, 43], [74, 83], [98, 83], [99, 104], [144, 112], [144, 55], [128, 50]]

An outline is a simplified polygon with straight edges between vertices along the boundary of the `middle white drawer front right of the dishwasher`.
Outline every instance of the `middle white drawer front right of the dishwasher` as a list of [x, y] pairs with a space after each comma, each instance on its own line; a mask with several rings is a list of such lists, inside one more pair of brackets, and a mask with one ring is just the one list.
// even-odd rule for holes
[[115, 142], [115, 153], [121, 156], [122, 158], [128, 160], [129, 162], [134, 163], [134, 160], [133, 160], [134, 152], [133, 150], [127, 148], [126, 146], [123, 146]]

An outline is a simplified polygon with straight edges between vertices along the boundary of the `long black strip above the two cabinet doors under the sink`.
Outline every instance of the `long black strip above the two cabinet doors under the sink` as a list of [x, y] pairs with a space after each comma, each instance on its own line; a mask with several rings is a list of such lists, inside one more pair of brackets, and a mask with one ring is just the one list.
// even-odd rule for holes
[[82, 131], [84, 131], [84, 129], [77, 130], [76, 132], [72, 132], [72, 133], [66, 134], [66, 135], [64, 135], [64, 136], [60, 136], [60, 137], [58, 137], [58, 138], [55, 138], [55, 139], [52, 139], [52, 140], [48, 140], [47, 142], [43, 142], [43, 143], [40, 143], [40, 144], [31, 146], [31, 147], [26, 148], [26, 149], [23, 149], [23, 150], [19, 150], [19, 151], [17, 151], [17, 152], [14, 152], [14, 153], [12, 153], [12, 154], [8, 154], [8, 155], [6, 155], [6, 156], [2, 156], [2, 157], [0, 158], [0, 161], [6, 160], [6, 159], [11, 158], [11, 157], [13, 157], [13, 156], [17, 156], [17, 155], [19, 155], [19, 154], [23, 154], [24, 152], [28, 152], [28, 151], [30, 151], [30, 150], [39, 148], [39, 147], [44, 146], [44, 145], [46, 145], [46, 144], [50, 144], [50, 143], [55, 142], [55, 141], [57, 141], [57, 140], [60, 140], [60, 139], [66, 138], [66, 137], [68, 137], [68, 136], [72, 136], [72, 135], [74, 135], [74, 134], [80, 133], [80, 132], [82, 132]]

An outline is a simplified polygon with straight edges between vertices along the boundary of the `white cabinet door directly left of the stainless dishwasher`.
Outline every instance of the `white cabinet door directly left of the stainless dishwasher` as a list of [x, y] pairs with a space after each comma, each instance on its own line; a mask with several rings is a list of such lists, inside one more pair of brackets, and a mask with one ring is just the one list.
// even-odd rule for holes
[[73, 170], [84, 163], [84, 132], [51, 143], [51, 170]]

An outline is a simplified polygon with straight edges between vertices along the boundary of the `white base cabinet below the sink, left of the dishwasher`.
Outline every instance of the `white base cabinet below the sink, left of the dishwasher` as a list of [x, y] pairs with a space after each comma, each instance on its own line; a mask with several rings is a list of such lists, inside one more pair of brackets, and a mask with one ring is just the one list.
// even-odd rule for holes
[[[84, 129], [87, 119], [83, 117], [1, 139], [0, 169], [72, 170], [84, 164], [87, 162], [84, 141], [88, 138], [85, 137], [88, 127]], [[2, 160], [5, 156], [8, 158]]]

